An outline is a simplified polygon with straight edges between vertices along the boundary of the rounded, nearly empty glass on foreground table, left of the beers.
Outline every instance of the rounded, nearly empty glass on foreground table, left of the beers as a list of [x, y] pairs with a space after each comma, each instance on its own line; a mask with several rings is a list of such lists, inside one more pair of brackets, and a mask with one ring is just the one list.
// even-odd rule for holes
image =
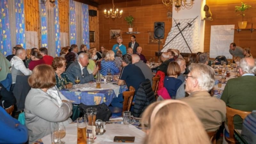
[[58, 125], [54, 128], [52, 133], [52, 143], [54, 144], [64, 144], [64, 141], [61, 141], [66, 135], [66, 128], [63, 125]]

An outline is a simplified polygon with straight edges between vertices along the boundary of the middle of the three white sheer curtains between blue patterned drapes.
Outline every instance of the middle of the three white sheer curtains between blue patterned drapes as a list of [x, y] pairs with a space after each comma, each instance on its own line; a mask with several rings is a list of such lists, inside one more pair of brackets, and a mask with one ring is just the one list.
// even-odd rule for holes
[[47, 18], [47, 37], [48, 37], [48, 55], [56, 56], [55, 32], [54, 32], [54, 10], [53, 4], [47, 1], [46, 18]]

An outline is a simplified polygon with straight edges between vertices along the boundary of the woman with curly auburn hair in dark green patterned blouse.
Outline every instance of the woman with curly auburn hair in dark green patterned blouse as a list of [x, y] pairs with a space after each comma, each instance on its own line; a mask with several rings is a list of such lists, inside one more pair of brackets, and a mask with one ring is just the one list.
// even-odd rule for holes
[[59, 90], [72, 88], [72, 82], [65, 73], [66, 59], [55, 57], [52, 61], [52, 68], [55, 71], [56, 86]]

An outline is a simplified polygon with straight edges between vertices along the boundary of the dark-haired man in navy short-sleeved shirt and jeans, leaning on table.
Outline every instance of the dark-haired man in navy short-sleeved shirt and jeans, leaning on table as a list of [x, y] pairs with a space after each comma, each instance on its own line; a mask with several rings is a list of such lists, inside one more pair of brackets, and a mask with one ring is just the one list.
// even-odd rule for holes
[[[117, 77], [114, 77], [114, 79], [117, 81], [118, 85], [124, 85], [126, 83], [128, 89], [130, 86], [134, 87], [135, 93], [136, 93], [140, 83], [144, 82], [146, 78], [142, 73], [141, 69], [135, 66], [134, 64], [132, 64], [131, 55], [125, 54], [122, 56], [122, 65], [123, 65], [123, 69], [119, 79]], [[123, 101], [124, 99], [122, 94], [122, 95], [119, 95], [117, 98], [114, 98], [112, 100], [111, 105], [116, 107], [123, 107], [123, 104], [122, 104]]]

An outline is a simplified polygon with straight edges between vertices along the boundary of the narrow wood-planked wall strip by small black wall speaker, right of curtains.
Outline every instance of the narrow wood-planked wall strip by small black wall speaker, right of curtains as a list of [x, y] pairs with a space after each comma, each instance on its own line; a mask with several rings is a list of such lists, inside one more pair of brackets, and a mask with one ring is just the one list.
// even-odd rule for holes
[[99, 38], [99, 11], [97, 7], [93, 7], [89, 5], [89, 10], [97, 11], [97, 16], [91, 17], [89, 16], [89, 30], [94, 31], [94, 40], [95, 42], [90, 42], [90, 47], [96, 47], [97, 50], [100, 50], [100, 38]]

